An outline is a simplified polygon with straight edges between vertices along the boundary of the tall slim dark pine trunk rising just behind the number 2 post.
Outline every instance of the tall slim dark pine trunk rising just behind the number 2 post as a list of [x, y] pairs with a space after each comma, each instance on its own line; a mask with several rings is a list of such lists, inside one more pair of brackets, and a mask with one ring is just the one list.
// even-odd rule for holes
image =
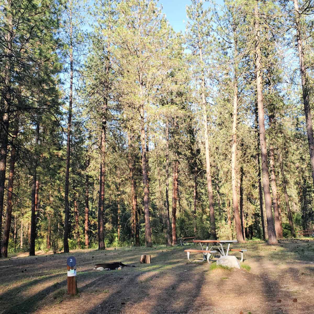
[[71, 155], [71, 120], [72, 120], [72, 101], [73, 101], [73, 22], [72, 22], [72, 1], [70, 1], [70, 91], [69, 91], [69, 110], [68, 110], [68, 134], [67, 134], [67, 160], [65, 168], [65, 184], [64, 184], [64, 236], [63, 236], [63, 252], [69, 252], [68, 236], [70, 233], [70, 208], [69, 208], [69, 172], [70, 172], [70, 155]]

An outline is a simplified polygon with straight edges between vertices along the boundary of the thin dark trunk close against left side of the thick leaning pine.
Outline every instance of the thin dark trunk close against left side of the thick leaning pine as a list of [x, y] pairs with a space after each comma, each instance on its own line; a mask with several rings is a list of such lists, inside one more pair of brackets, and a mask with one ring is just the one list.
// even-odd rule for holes
[[257, 185], [258, 185], [258, 198], [259, 198], [259, 208], [261, 212], [261, 222], [262, 222], [262, 229], [263, 229], [263, 240], [268, 239], [268, 230], [267, 230], [267, 223], [265, 219], [265, 212], [263, 209], [263, 190], [262, 190], [262, 182], [261, 182], [261, 168], [259, 162], [259, 132], [258, 132], [258, 113], [257, 113], [257, 104], [255, 106], [255, 132], [257, 135], [257, 148], [256, 148], [256, 155], [255, 155], [255, 162], [257, 166]]

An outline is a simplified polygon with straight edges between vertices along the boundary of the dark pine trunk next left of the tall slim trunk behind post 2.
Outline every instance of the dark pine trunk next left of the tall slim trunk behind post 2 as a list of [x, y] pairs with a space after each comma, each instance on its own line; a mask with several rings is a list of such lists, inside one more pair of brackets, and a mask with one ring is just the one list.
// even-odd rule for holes
[[[37, 117], [38, 119], [38, 117]], [[36, 136], [35, 147], [39, 146], [39, 121], [36, 123]], [[39, 191], [39, 176], [37, 176], [38, 156], [35, 152], [34, 172], [33, 172], [33, 186], [32, 186], [32, 206], [30, 218], [30, 256], [35, 256], [35, 237], [36, 237], [36, 211], [38, 204], [38, 191]]]

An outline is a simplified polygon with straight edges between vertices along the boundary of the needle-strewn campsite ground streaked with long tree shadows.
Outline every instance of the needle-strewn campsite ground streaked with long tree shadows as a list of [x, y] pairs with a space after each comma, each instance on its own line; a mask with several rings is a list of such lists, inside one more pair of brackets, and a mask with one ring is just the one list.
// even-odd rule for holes
[[[313, 313], [313, 240], [232, 247], [248, 250], [241, 269], [188, 263], [181, 246], [2, 259], [0, 314]], [[140, 264], [141, 254], [150, 254], [152, 263]], [[66, 259], [71, 255], [78, 273], [79, 294], [74, 297], [67, 295]], [[115, 261], [136, 267], [93, 270], [95, 263]]]

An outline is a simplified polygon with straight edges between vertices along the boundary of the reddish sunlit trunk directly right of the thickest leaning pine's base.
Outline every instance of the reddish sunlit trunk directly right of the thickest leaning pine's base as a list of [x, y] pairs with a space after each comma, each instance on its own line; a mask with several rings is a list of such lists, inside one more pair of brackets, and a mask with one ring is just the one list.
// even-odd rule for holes
[[[273, 123], [273, 116], [269, 116], [269, 125], [271, 127]], [[274, 221], [275, 221], [275, 231], [277, 239], [283, 238], [283, 231], [281, 225], [281, 218], [279, 214], [278, 206], [278, 197], [277, 197], [277, 183], [276, 183], [276, 174], [275, 174], [275, 157], [274, 157], [274, 147], [270, 145], [269, 147], [269, 160], [270, 160], [270, 177], [271, 177], [271, 186], [273, 194], [273, 211], [274, 211]]]

